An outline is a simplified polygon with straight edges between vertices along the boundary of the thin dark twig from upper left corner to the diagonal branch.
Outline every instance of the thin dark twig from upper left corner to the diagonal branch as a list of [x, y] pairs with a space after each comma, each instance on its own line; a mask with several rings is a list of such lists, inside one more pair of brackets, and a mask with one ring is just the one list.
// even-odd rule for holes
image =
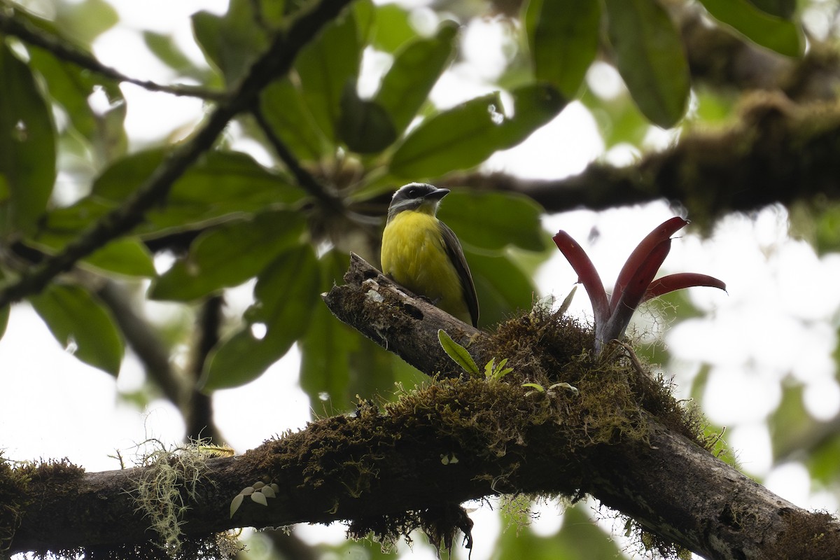
[[48, 34], [42, 29], [37, 29], [31, 24], [4, 14], [3, 12], [0, 12], [0, 33], [17, 37], [24, 41], [24, 43], [49, 51], [55, 58], [66, 60], [110, 80], [126, 81], [135, 86], [143, 87], [150, 92], [165, 92], [176, 96], [199, 97], [212, 101], [222, 101], [228, 95], [226, 92], [212, 92], [197, 86], [168, 86], [155, 81], [139, 80], [126, 76], [110, 66], [103, 65], [102, 62], [92, 55], [76, 48], [76, 46], [66, 42], [59, 36]]

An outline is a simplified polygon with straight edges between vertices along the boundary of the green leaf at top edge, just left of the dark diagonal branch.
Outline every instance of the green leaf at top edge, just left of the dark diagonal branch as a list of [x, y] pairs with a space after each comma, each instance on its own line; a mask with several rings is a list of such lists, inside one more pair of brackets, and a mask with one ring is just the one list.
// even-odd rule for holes
[[192, 29], [207, 60], [222, 72], [228, 86], [236, 84], [268, 46], [268, 34], [256, 24], [251, 0], [231, 0], [224, 16], [194, 13]]

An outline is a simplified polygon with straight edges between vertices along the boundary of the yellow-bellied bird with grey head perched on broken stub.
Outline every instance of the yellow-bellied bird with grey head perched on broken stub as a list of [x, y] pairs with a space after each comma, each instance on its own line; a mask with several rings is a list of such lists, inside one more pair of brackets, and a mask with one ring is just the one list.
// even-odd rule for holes
[[477, 327], [478, 298], [464, 249], [437, 217], [440, 201], [448, 194], [449, 189], [426, 183], [409, 183], [394, 193], [382, 233], [382, 272]]

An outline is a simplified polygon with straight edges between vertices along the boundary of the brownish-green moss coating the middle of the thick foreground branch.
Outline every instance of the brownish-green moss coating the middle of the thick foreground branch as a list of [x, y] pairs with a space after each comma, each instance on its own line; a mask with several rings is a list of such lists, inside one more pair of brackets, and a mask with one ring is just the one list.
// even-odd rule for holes
[[[486, 484], [485, 494], [564, 496], [572, 502], [582, 497], [589, 453], [617, 442], [645, 441], [650, 415], [707, 447], [702, 417], [675, 400], [668, 379], [652, 374], [629, 347], [617, 345], [596, 358], [589, 351], [593, 342], [591, 329], [580, 322], [536, 308], [469, 347], [480, 370], [491, 359], [507, 359], [512, 371], [502, 379], [486, 379], [483, 373], [470, 377], [453, 362], [433, 382], [402, 391], [395, 402], [362, 400], [354, 415], [313, 422], [246, 458], [272, 479], [283, 479], [286, 465], [304, 465], [299, 484], [334, 496], [330, 514], [340, 516], [349, 500], [375, 486], [382, 458], [427, 466], [437, 460], [407, 458], [414, 441], [436, 442], [444, 464], [452, 458], [481, 464], [486, 470], [474, 481]], [[523, 388], [525, 383], [543, 391]], [[411, 442], [403, 440], [405, 434], [411, 434]], [[468, 521], [453, 498], [428, 509], [353, 519], [349, 532], [387, 544], [421, 529], [432, 542], [449, 547], [459, 531], [469, 542]], [[638, 534], [679, 556], [676, 549]]]

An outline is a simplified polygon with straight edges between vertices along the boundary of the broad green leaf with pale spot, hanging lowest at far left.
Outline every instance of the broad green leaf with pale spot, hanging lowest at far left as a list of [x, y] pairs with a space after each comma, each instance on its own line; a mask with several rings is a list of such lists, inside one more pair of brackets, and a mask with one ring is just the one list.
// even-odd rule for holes
[[123, 339], [111, 312], [87, 290], [52, 284], [29, 302], [68, 352], [109, 374], [119, 373]]

